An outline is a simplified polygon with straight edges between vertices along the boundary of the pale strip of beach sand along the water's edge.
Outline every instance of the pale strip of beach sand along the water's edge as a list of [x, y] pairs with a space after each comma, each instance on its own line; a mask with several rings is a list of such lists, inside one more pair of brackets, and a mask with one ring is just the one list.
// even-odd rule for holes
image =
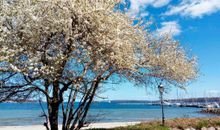
[[[140, 122], [111, 122], [111, 123], [93, 123], [88, 127], [84, 127], [82, 129], [90, 129], [90, 128], [114, 128], [120, 126], [128, 126], [135, 125]], [[61, 126], [59, 127], [61, 130]], [[46, 130], [42, 125], [32, 125], [32, 126], [0, 126], [0, 130]]]

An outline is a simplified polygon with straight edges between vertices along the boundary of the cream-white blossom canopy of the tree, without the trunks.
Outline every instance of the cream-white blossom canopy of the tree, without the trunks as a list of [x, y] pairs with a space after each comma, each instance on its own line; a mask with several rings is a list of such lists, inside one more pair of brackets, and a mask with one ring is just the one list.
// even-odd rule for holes
[[[93, 80], [103, 69], [125, 76], [146, 69], [146, 76], [181, 83], [196, 76], [195, 59], [177, 42], [153, 39], [139, 24], [133, 26], [132, 19], [114, 11], [113, 0], [1, 3], [0, 60], [8, 61], [11, 71], [50, 82]], [[70, 60], [73, 69], [62, 75]]]

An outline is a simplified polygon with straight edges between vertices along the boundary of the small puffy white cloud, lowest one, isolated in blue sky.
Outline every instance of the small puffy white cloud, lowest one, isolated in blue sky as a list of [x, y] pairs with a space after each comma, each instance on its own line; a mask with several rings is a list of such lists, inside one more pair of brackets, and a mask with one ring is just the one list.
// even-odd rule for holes
[[169, 34], [172, 36], [177, 36], [181, 33], [180, 25], [177, 21], [169, 21], [169, 22], [162, 22], [162, 27], [156, 31], [156, 35], [164, 35]]

